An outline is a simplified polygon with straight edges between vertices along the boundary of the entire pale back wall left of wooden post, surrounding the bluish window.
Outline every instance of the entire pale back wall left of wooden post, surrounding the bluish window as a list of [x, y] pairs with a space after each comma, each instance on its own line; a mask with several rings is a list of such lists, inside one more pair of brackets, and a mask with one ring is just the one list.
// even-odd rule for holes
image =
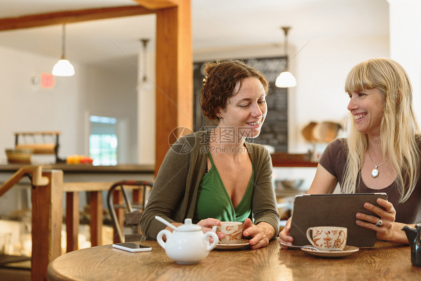
[[[55, 77], [52, 89], [32, 83], [50, 73], [57, 58], [0, 47], [0, 162], [14, 147], [16, 131], [61, 131], [59, 156], [88, 154], [89, 115], [121, 120], [127, 141], [120, 142], [124, 163], [137, 162], [136, 71], [113, 73], [72, 64], [73, 77]], [[28, 140], [29, 142], [29, 140]], [[52, 158], [53, 159], [53, 158]]]

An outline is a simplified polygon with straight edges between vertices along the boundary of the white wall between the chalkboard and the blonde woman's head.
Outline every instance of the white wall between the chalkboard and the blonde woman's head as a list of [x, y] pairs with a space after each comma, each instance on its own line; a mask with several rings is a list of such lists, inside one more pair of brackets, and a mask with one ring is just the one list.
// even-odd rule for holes
[[305, 153], [310, 148], [301, 134], [309, 122], [343, 123], [349, 102], [344, 90], [345, 79], [354, 65], [370, 58], [389, 56], [387, 35], [312, 39], [293, 61], [298, 85], [291, 89], [289, 96], [295, 118], [289, 132], [290, 152]]

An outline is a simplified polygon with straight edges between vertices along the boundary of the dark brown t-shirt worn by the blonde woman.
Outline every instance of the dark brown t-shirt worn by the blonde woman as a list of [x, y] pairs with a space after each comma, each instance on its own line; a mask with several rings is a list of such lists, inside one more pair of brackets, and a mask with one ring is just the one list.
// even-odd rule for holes
[[[338, 138], [327, 145], [327, 148], [319, 161], [320, 165], [322, 165], [327, 172], [338, 179], [339, 184], [341, 184], [344, 179], [347, 154], [347, 139]], [[408, 200], [400, 204], [398, 204], [399, 193], [396, 182], [393, 182], [383, 189], [368, 188], [361, 178], [358, 180], [357, 184], [356, 193], [386, 193], [388, 201], [391, 202], [396, 209], [396, 222], [404, 224], [416, 224], [421, 222], [421, 177], [418, 179], [417, 185]]]

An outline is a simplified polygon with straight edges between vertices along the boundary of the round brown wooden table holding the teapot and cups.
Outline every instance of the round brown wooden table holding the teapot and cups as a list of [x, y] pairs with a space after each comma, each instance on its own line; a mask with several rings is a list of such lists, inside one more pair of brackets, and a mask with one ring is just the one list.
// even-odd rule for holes
[[48, 280], [420, 280], [410, 247], [377, 242], [373, 248], [338, 258], [281, 250], [277, 240], [266, 248], [213, 250], [194, 265], [175, 263], [156, 241], [143, 241], [151, 252], [130, 253], [97, 246], [61, 255], [48, 265]]

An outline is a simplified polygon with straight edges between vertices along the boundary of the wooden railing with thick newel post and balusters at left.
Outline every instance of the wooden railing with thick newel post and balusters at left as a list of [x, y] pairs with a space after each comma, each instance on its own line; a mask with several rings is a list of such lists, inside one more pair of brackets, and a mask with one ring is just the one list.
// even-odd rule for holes
[[[102, 244], [102, 192], [114, 182], [63, 182], [62, 170], [44, 170], [41, 166], [23, 166], [0, 186], [0, 196], [23, 177], [31, 178], [32, 203], [32, 257], [31, 280], [47, 280], [48, 264], [61, 255], [63, 223], [63, 194], [66, 194], [67, 252], [78, 249], [79, 192], [90, 192], [91, 245]], [[121, 191], [116, 190], [116, 203], [121, 202]], [[123, 217], [122, 212], [117, 212]]]

